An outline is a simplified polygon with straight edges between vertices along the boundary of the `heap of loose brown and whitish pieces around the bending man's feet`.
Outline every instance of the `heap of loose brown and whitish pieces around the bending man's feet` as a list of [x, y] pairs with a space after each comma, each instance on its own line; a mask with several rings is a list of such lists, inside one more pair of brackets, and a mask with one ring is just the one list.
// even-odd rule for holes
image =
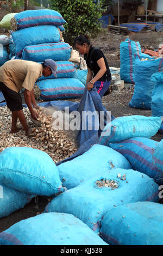
[[[77, 151], [75, 142], [64, 131], [53, 130], [52, 115], [47, 115], [48, 110], [46, 108], [35, 109], [39, 113], [40, 127], [36, 127], [30, 120], [29, 109], [23, 108], [27, 123], [32, 129], [30, 137], [25, 135], [23, 129], [11, 134], [11, 112], [7, 106], [0, 109], [0, 152], [9, 147], [31, 147], [45, 151], [57, 163]], [[17, 125], [21, 126], [19, 121], [17, 121]]]

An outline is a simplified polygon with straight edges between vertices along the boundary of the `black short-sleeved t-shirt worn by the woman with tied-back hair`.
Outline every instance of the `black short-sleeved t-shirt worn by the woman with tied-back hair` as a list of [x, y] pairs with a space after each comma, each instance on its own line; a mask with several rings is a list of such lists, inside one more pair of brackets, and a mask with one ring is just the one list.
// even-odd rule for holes
[[[93, 50], [93, 52], [92, 52], [92, 50]], [[91, 54], [91, 52], [92, 52], [92, 54]], [[90, 57], [91, 57], [91, 62], [90, 62]], [[87, 56], [87, 54], [84, 54], [84, 59], [86, 60], [87, 66], [93, 72], [93, 77], [95, 77], [96, 74], [98, 73], [98, 71], [100, 70], [100, 68], [97, 64], [97, 60], [99, 60], [101, 58], [104, 58], [105, 65], [106, 65], [106, 72], [101, 78], [99, 78], [98, 81], [106, 81], [106, 80], [110, 81], [111, 80], [111, 73], [110, 73], [110, 69], [109, 69], [109, 66], [108, 66], [108, 62], [107, 62], [103, 52], [98, 48], [90, 46], [88, 56]]]

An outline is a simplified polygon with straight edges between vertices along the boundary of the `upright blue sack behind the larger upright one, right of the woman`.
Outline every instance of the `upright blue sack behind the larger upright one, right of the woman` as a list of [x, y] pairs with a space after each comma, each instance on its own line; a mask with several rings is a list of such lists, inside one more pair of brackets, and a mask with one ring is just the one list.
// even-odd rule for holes
[[149, 56], [148, 60], [142, 59], [135, 56], [135, 89], [129, 106], [151, 109], [152, 91], [156, 84], [151, 81], [151, 76], [162, 69], [163, 58]]

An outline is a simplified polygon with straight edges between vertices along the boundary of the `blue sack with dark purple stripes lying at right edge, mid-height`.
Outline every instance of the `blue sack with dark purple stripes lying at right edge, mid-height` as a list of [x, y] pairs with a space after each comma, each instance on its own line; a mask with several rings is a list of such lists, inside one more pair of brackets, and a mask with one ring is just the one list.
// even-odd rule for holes
[[109, 145], [125, 156], [134, 170], [147, 174], [160, 185], [163, 184], [163, 172], [155, 164], [161, 159], [154, 157], [159, 142], [153, 141], [153, 139], [135, 137]]

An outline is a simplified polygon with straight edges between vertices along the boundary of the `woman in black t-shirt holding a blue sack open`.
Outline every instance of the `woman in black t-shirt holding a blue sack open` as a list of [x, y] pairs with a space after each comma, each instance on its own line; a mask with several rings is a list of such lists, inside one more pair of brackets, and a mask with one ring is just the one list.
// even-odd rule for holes
[[91, 90], [95, 86], [101, 97], [110, 94], [111, 73], [103, 52], [92, 47], [88, 35], [77, 36], [74, 45], [86, 60], [87, 78], [85, 86], [87, 90]]

